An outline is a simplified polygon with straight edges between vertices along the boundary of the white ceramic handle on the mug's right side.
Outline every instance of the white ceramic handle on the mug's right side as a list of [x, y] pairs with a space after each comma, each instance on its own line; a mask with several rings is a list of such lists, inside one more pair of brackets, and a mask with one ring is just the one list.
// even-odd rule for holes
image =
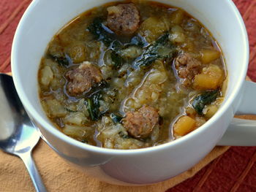
[[[256, 83], [244, 82], [244, 96], [236, 115], [256, 114]], [[217, 145], [256, 146], [256, 120], [233, 118]]]

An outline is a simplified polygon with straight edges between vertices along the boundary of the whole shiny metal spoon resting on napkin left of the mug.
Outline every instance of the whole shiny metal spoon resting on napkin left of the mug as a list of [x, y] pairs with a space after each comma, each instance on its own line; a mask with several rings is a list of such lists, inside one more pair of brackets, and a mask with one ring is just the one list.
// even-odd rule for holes
[[36, 191], [46, 191], [31, 156], [39, 132], [20, 102], [12, 77], [0, 73], [0, 148], [20, 157], [29, 171]]

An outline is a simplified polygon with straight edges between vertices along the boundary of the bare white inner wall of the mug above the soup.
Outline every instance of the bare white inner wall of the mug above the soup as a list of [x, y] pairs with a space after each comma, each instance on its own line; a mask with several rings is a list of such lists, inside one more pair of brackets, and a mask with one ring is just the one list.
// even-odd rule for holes
[[[42, 120], [42, 124], [50, 122], [39, 103], [37, 70], [48, 42], [69, 20], [87, 9], [108, 1], [55, 0], [49, 5], [48, 1], [34, 0], [20, 21], [15, 34], [13, 45], [15, 48], [12, 49], [12, 72], [26, 110], [37, 120]], [[185, 9], [200, 20], [219, 42], [225, 55], [229, 78], [227, 99], [222, 104], [223, 107], [238, 91], [247, 69], [248, 47], [244, 23], [233, 2], [230, 0], [161, 0], [161, 2]], [[244, 31], [241, 31], [241, 28]]]

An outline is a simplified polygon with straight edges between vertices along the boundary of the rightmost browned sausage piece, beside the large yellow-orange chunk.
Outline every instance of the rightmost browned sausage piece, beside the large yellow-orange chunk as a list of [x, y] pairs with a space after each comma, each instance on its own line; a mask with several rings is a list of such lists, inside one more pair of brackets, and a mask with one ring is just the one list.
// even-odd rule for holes
[[175, 67], [178, 69], [178, 77], [184, 80], [184, 85], [189, 86], [196, 74], [202, 71], [202, 64], [188, 53], [178, 55], [175, 60]]

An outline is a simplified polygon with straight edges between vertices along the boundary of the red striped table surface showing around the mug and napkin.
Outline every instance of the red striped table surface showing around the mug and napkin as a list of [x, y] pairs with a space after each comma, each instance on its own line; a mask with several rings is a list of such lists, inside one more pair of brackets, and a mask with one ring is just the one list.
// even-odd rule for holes
[[[241, 12], [249, 34], [248, 76], [256, 82], [256, 0], [233, 0]], [[10, 52], [15, 29], [31, 0], [0, 1], [0, 72], [10, 72]], [[230, 147], [226, 153], [200, 170], [194, 177], [167, 190], [256, 191], [256, 147]]]

